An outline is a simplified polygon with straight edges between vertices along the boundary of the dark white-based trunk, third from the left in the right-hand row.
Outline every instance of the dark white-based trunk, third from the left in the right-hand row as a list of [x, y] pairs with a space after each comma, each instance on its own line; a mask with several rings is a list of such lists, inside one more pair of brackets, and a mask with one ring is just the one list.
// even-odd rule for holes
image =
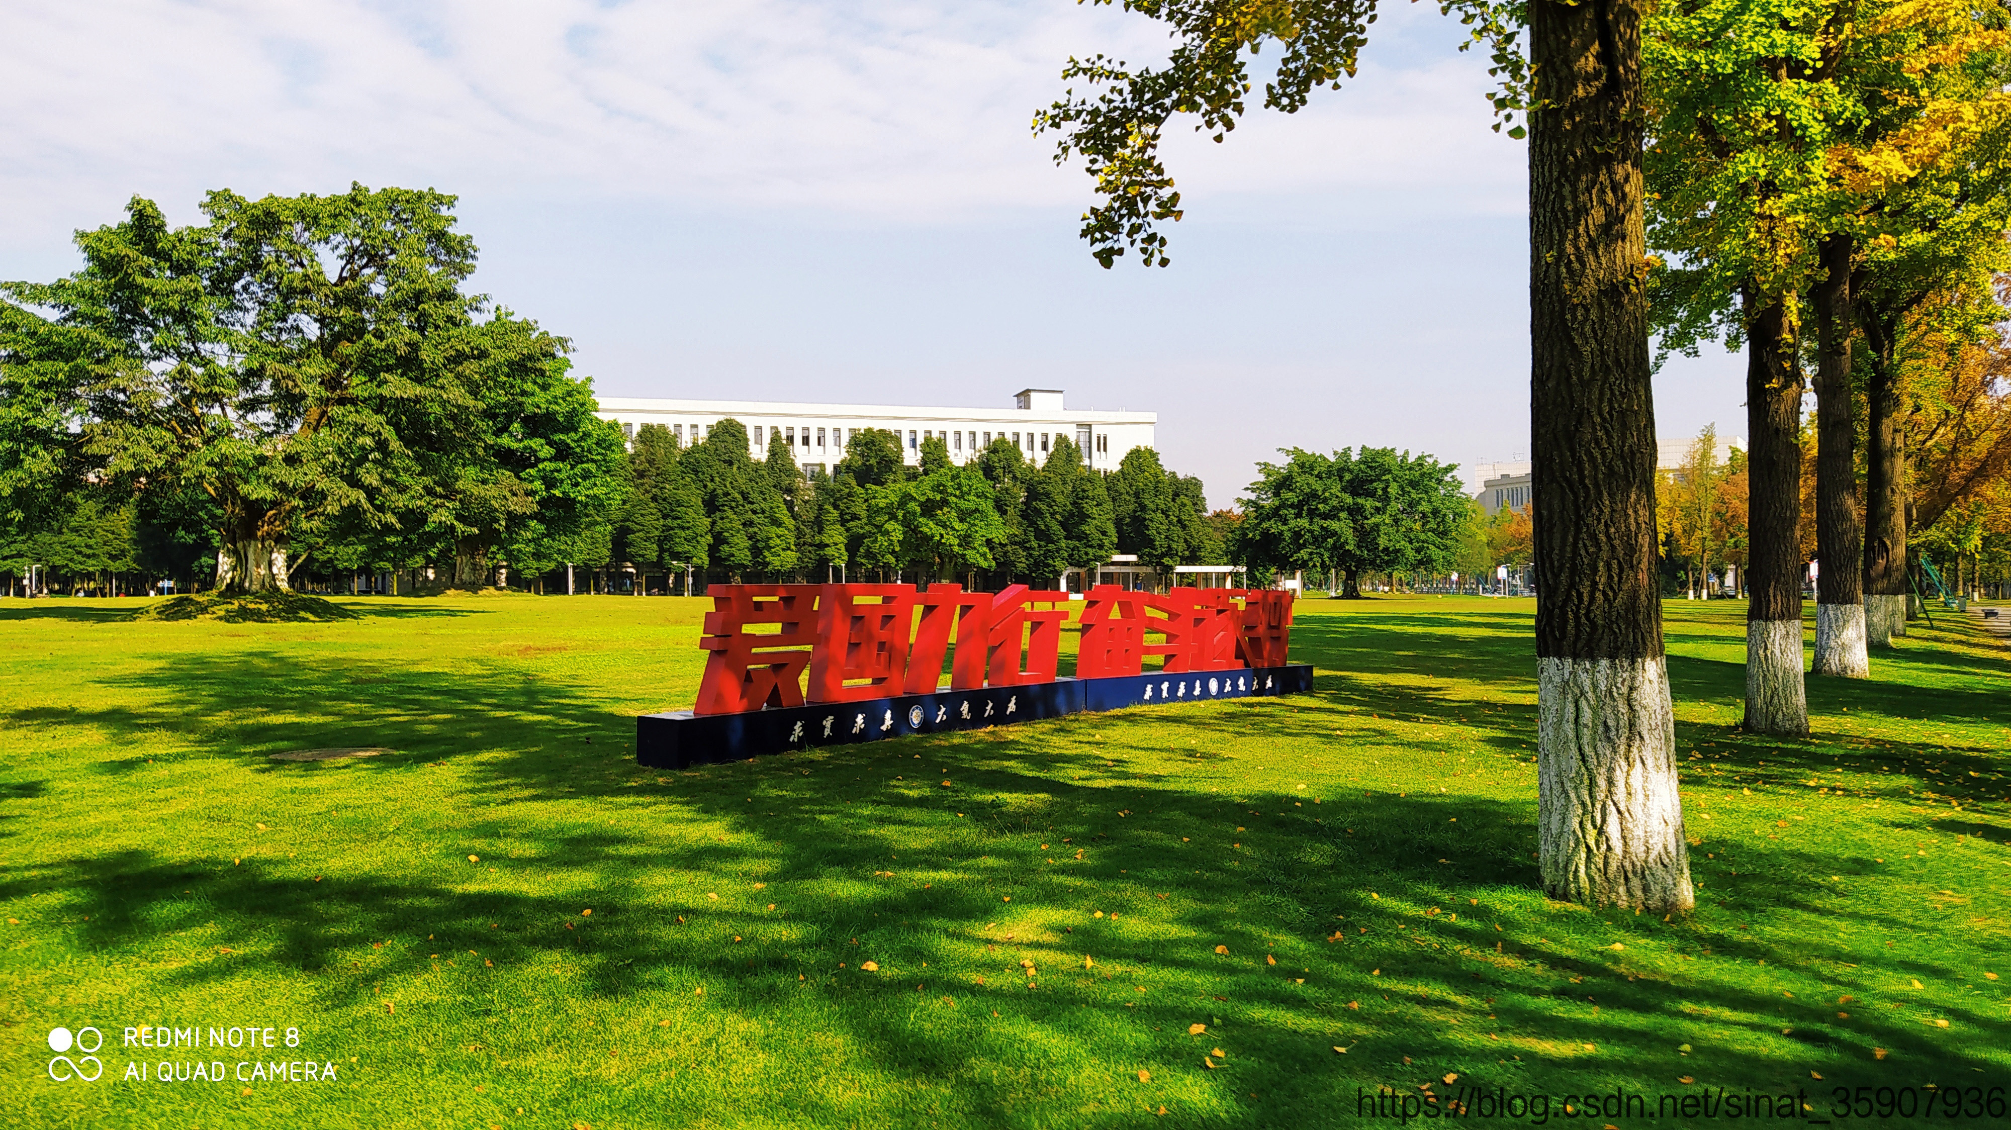
[[1822, 241], [1816, 286], [1816, 674], [1870, 678], [1864, 651], [1864, 521], [1858, 513], [1858, 422], [1850, 392], [1850, 259], [1856, 243]]

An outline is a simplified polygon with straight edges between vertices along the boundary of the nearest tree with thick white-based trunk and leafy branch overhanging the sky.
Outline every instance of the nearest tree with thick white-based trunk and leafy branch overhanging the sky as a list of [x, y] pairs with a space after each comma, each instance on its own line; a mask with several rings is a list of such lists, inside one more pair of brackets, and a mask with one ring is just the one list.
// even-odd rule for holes
[[[1096, 90], [1036, 115], [1082, 153], [1102, 201], [1082, 235], [1108, 267], [1166, 263], [1180, 217], [1158, 145], [1174, 115], [1221, 141], [1249, 58], [1281, 52], [1263, 105], [1297, 111], [1355, 72], [1376, 0], [1124, 0], [1170, 26], [1162, 68], [1070, 60]], [[1544, 599], [1536, 605], [1542, 885], [1557, 899], [1685, 911], [1689, 849], [1655, 579], [1655, 424], [1641, 149], [1643, 0], [1446, 0], [1492, 50], [1502, 115], [1528, 107], [1530, 448]], [[1528, 30], [1528, 54], [1518, 44]], [[1522, 127], [1510, 127], [1522, 137]], [[1653, 782], [1641, 786], [1639, 782]], [[1629, 782], [1625, 788], [1621, 782]]]

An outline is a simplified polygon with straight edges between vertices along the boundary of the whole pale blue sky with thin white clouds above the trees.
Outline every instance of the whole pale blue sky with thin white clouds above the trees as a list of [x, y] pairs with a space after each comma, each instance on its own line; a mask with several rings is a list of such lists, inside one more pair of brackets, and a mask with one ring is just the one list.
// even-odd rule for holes
[[[1104, 271], [1034, 139], [1070, 54], [1164, 54], [1068, 0], [107, 2], [18, 10], [0, 275], [74, 267], [139, 193], [436, 187], [477, 288], [617, 396], [1160, 414], [1231, 505], [1281, 446], [1528, 448], [1524, 151], [1458, 24], [1398, 4], [1357, 80], [1180, 135], [1172, 267]], [[1657, 378], [1665, 436], [1742, 436], [1742, 362]]]

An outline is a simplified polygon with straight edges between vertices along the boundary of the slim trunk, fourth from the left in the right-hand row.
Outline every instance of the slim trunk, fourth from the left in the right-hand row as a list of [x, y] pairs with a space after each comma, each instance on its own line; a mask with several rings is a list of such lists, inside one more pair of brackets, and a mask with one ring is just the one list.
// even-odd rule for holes
[[1890, 647], [1906, 635], [1906, 446], [1900, 430], [1898, 316], [1862, 318], [1870, 348], [1864, 390], [1864, 637]]

